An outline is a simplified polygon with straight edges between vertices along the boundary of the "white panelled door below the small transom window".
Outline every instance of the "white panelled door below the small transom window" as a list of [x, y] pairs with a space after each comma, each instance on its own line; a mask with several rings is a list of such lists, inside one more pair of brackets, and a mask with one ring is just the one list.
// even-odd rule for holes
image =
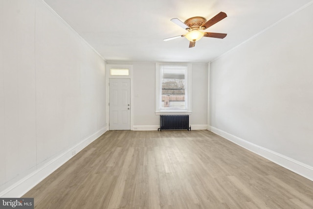
[[110, 130], [131, 129], [131, 81], [128, 78], [110, 78]]

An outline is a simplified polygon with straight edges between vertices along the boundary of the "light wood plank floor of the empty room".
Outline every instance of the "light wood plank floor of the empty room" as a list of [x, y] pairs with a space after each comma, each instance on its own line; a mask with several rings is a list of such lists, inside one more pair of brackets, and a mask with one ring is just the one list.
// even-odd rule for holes
[[24, 197], [36, 209], [312, 209], [313, 182], [208, 131], [108, 131]]

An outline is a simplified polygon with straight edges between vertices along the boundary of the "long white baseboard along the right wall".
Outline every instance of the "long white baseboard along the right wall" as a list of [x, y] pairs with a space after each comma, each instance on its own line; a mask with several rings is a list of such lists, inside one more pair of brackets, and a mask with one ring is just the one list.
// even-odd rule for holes
[[210, 131], [313, 181], [313, 167], [210, 126]]

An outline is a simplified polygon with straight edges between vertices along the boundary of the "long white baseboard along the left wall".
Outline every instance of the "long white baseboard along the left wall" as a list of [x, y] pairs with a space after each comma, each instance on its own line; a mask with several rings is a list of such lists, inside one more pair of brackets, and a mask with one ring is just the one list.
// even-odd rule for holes
[[44, 180], [53, 171], [55, 171], [61, 165], [66, 163], [76, 153], [80, 152], [82, 149], [88, 146], [95, 139], [98, 139], [106, 131], [107, 131], [107, 127], [100, 129], [96, 133], [92, 134], [91, 136], [75, 144], [71, 148], [67, 149], [66, 151], [64, 151], [63, 153], [61, 153], [54, 159], [38, 167], [35, 171], [23, 177], [20, 181], [16, 182], [14, 185], [9, 186], [8, 188], [1, 191], [0, 197], [21, 197], [31, 188], [33, 188], [42, 180]]

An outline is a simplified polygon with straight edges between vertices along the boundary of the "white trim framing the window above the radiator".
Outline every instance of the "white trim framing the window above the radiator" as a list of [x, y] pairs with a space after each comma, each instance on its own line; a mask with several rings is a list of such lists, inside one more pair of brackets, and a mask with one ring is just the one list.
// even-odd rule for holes
[[[187, 110], [184, 109], [171, 109], [171, 110], [162, 110], [160, 109], [160, 102], [159, 102], [159, 93], [162, 91], [160, 87], [160, 66], [167, 65], [167, 66], [187, 66]], [[162, 114], [181, 114], [185, 113], [190, 115], [192, 113], [191, 109], [191, 63], [156, 63], [156, 115]]]

